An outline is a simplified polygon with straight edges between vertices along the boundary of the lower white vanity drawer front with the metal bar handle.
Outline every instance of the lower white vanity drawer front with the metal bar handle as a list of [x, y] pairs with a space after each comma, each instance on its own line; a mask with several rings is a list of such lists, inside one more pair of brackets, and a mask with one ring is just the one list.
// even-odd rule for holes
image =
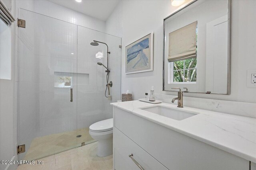
[[116, 170], [140, 170], [132, 158], [144, 170], [168, 170], [145, 150], [140, 148], [131, 139], [126, 137], [118, 129], [114, 128], [114, 162]]

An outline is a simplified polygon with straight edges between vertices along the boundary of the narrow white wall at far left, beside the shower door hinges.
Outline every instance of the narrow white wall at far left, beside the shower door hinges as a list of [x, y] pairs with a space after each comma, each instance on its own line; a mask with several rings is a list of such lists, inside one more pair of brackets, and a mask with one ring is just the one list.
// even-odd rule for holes
[[[12, 3], [11, 3], [12, 2]], [[14, 1], [4, 1], [6, 6], [11, 10], [15, 16]], [[14, 85], [14, 51], [15, 51], [15, 22], [8, 27], [11, 31], [11, 80], [0, 79], [0, 160], [16, 160], [16, 146], [17, 146], [17, 114], [15, 106], [16, 88]], [[2, 42], [1, 42], [2, 43]], [[0, 170], [7, 169], [14, 170], [16, 165], [0, 164]]]

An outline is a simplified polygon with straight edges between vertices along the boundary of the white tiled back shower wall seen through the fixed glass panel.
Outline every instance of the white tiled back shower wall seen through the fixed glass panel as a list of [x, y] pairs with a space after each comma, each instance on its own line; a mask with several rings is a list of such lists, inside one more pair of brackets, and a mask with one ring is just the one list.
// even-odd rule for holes
[[[105, 33], [78, 26], [78, 76], [77, 89], [77, 119], [78, 129], [89, 127], [92, 123], [103, 120], [104, 117], [104, 80], [105, 68], [97, 62], [106, 63], [106, 45], [92, 46], [93, 41], [105, 42]], [[104, 58], [97, 59], [96, 53], [102, 52]], [[88, 84], [83, 74], [89, 75]]]

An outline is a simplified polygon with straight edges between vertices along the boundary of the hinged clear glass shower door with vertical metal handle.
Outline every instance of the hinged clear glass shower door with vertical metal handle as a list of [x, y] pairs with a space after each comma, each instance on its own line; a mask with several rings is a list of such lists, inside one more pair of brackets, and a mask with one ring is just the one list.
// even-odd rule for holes
[[26, 20], [18, 28], [18, 142], [26, 145], [19, 160], [35, 160], [81, 146], [77, 25], [23, 9], [19, 18]]

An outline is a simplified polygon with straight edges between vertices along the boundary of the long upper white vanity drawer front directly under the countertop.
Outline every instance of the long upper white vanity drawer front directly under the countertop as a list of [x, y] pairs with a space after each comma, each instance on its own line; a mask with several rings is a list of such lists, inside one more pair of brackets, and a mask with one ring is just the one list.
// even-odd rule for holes
[[116, 129], [170, 170], [248, 170], [249, 161], [115, 108]]

